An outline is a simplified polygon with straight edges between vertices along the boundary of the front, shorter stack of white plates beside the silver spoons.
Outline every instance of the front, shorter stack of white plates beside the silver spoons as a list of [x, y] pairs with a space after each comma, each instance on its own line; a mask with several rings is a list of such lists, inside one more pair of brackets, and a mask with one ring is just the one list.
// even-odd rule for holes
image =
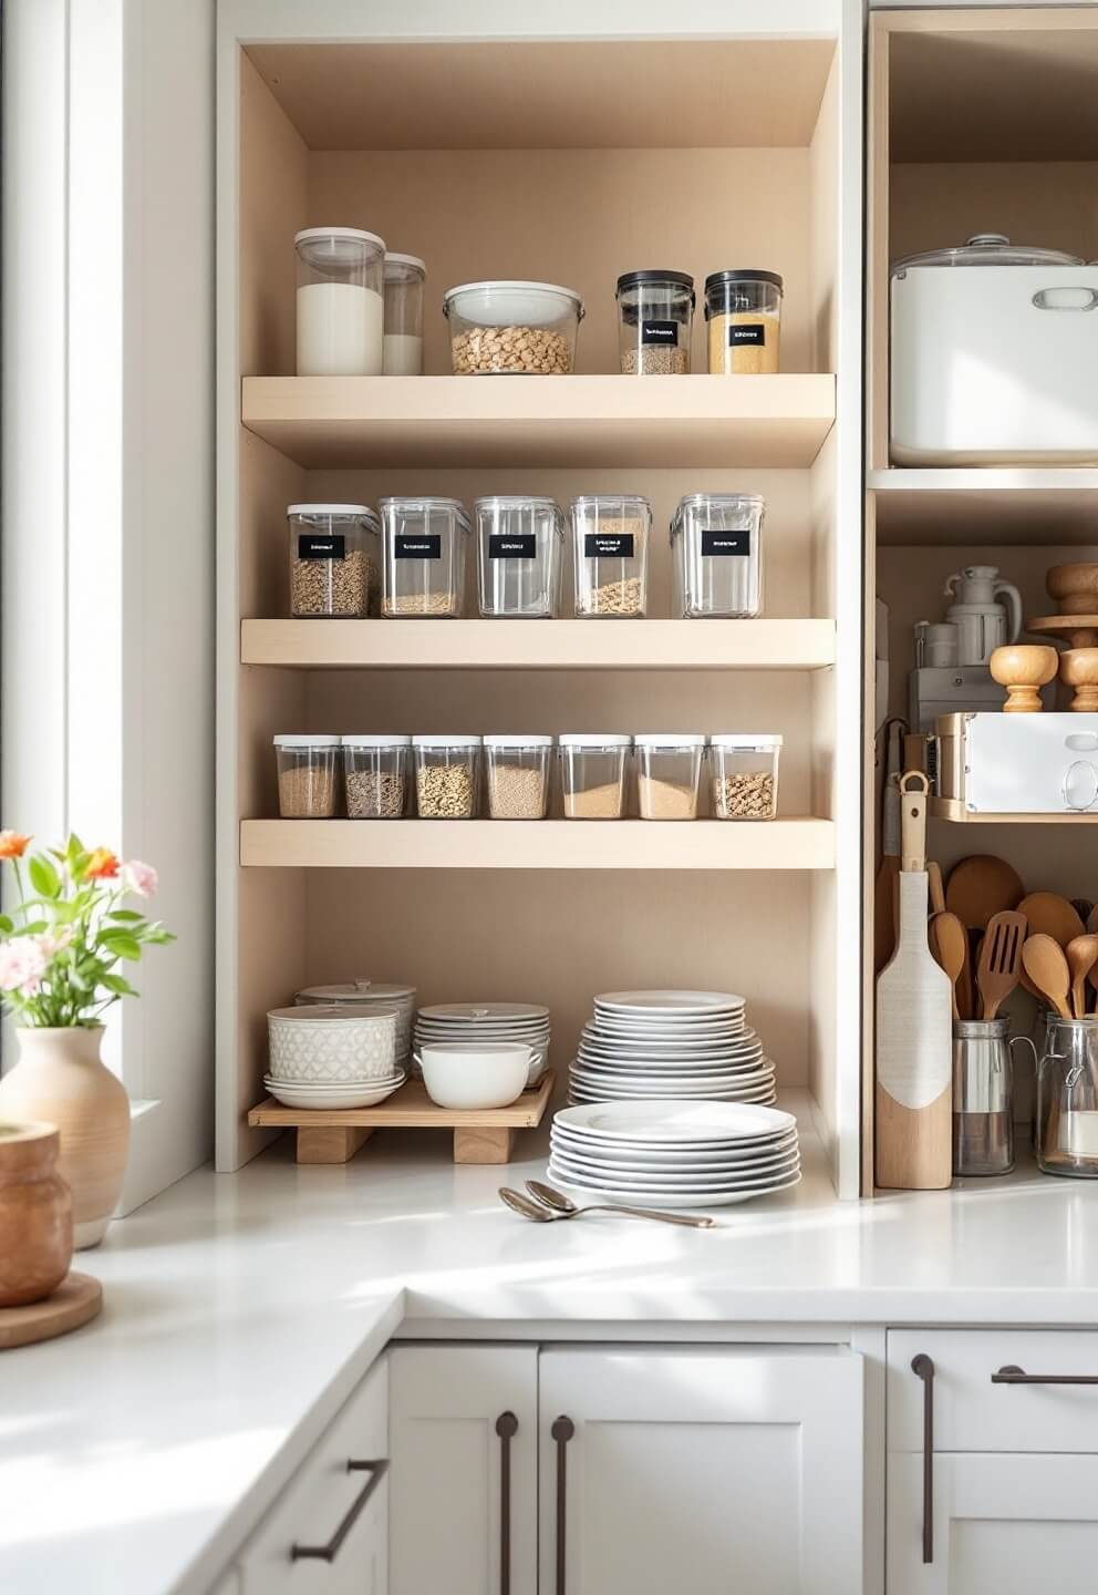
[[727, 1207], [798, 1183], [797, 1120], [743, 1102], [566, 1107], [548, 1179], [633, 1207]]

